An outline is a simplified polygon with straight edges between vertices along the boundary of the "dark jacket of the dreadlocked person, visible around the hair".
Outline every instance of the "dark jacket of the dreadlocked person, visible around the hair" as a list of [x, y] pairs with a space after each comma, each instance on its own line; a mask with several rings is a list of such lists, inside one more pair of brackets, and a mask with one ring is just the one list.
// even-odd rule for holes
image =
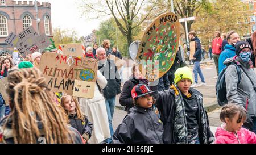
[[[11, 129], [12, 120], [11, 118], [9, 119], [8, 118], [9, 117], [6, 116], [0, 122], [0, 137], [3, 136], [3, 140], [5, 140], [5, 143], [14, 144], [14, 137]], [[6, 124], [6, 127], [3, 128], [5, 124]], [[40, 129], [41, 132], [43, 132], [43, 124], [40, 123], [40, 121], [38, 122], [38, 128]], [[73, 133], [72, 139], [74, 144], [84, 144], [84, 140], [82, 140], [80, 133], [76, 129], [72, 128], [71, 126], [67, 126], [67, 128], [69, 129], [69, 131]], [[44, 133], [42, 133], [42, 136], [40, 137], [44, 137]], [[43, 139], [40, 139], [40, 137], [38, 137], [38, 143], [43, 143], [43, 144], [47, 143], [47, 141], [43, 141]], [[0, 139], [0, 144], [1, 143], [3, 143], [3, 141], [1, 141]]]

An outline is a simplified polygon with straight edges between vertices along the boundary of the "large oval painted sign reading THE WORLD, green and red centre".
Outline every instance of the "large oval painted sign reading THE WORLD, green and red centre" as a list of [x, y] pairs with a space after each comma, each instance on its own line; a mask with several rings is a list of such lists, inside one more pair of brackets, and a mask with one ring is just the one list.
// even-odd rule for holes
[[144, 33], [136, 59], [147, 70], [142, 74], [149, 81], [162, 77], [174, 63], [179, 47], [179, 24], [178, 16], [167, 12], [158, 16]]

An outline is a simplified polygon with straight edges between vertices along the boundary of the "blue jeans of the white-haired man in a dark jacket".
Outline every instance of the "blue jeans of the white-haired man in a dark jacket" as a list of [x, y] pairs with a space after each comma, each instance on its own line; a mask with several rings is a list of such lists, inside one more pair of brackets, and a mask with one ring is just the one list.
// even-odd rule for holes
[[109, 99], [105, 98], [105, 103], [106, 103], [106, 110], [107, 110], [108, 119], [109, 119], [110, 135], [113, 136], [114, 130], [113, 130], [113, 126], [112, 126], [112, 118], [113, 118], [114, 109], [115, 109], [115, 96], [113, 98], [109, 98]]

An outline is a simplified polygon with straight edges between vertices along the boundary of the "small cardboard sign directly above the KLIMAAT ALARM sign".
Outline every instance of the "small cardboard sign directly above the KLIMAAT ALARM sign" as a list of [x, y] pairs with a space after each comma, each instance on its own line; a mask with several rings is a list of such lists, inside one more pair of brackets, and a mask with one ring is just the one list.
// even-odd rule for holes
[[80, 43], [61, 45], [61, 51], [63, 52], [64, 55], [77, 56], [77, 57], [83, 56], [83, 49]]

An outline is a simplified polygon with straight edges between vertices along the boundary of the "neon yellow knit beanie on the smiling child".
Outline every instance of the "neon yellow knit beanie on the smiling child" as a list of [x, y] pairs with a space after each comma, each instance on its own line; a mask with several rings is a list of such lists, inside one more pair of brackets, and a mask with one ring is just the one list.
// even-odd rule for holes
[[175, 84], [177, 84], [177, 82], [179, 82], [181, 79], [184, 79], [184, 78], [190, 79], [191, 83], [193, 83], [193, 75], [192, 75], [191, 69], [188, 67], [178, 68], [174, 73]]

